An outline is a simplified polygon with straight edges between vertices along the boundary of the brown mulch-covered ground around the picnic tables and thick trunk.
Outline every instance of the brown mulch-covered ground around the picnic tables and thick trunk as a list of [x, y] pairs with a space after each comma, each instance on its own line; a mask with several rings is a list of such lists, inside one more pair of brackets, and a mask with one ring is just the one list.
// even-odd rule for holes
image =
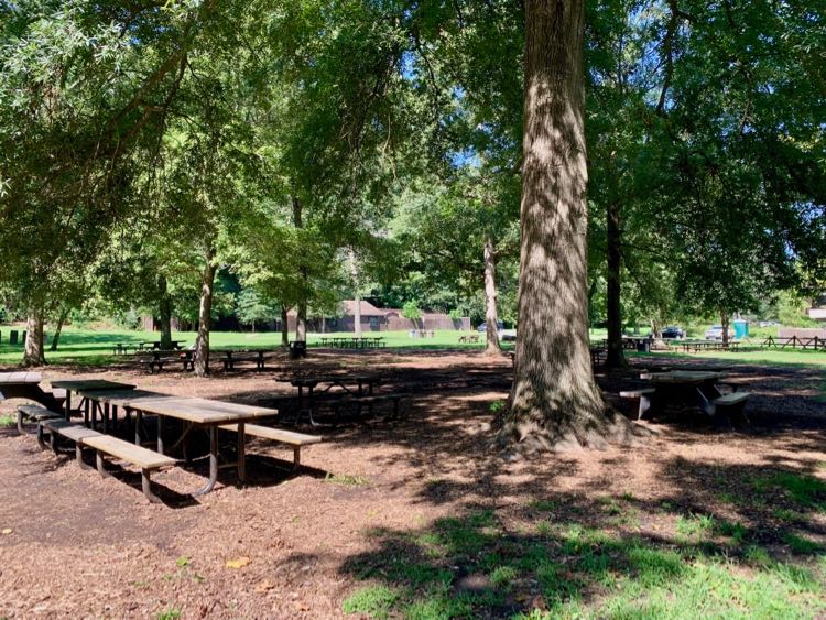
[[[634, 365], [600, 374], [609, 394], [631, 384], [646, 360]], [[411, 393], [401, 418], [300, 428], [324, 442], [304, 452], [297, 475], [286, 467], [287, 449], [253, 444], [249, 483], [237, 486], [224, 470], [215, 491], [197, 500], [186, 493], [203, 482], [203, 468], [156, 475], [165, 503], [149, 504], [134, 471], [105, 479], [80, 470], [68, 453], [56, 457], [32, 436], [0, 429], [0, 618], [336, 618], [357, 587], [354, 563], [380, 551], [376, 532], [420, 531], [479, 508], [518, 524], [524, 507], [546, 498], [582, 509], [632, 494], [639, 535], [666, 533], [657, 507], [667, 504], [746, 522], [771, 546], [781, 527], [773, 513], [720, 494], [748, 492], [748, 480], [768, 470], [826, 478], [826, 404], [815, 370], [733, 367], [730, 379], [753, 394], [748, 429], [677, 415], [645, 423], [654, 433], [640, 447], [513, 463], [490, 444], [490, 405], [507, 398], [508, 358], [313, 351], [292, 366], [207, 379], [129, 367], [43, 370], [46, 382], [106, 378], [261, 405], [291, 394], [284, 379], [295, 374], [348, 371], [380, 374], [382, 391]], [[14, 404], [1, 403], [0, 413]], [[806, 533], [823, 540], [823, 514], [806, 522]]]

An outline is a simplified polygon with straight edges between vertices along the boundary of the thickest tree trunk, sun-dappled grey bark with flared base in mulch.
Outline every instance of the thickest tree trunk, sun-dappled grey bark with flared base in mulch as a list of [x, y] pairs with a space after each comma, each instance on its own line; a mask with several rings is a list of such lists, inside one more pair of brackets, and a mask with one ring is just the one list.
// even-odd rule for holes
[[519, 452], [629, 438], [588, 344], [585, 0], [525, 0], [519, 331], [501, 443]]

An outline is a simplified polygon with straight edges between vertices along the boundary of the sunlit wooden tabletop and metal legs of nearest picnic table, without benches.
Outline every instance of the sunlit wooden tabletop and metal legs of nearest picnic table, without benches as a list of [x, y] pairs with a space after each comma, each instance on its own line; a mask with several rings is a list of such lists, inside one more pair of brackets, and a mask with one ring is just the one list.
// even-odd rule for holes
[[[93, 393], [91, 398], [98, 398], [99, 393]], [[120, 404], [135, 414], [135, 444], [143, 443], [141, 428], [144, 415], [157, 416], [156, 450], [164, 454], [164, 425], [166, 418], [180, 420], [184, 423], [181, 437], [173, 447], [181, 445], [186, 455], [186, 442], [189, 434], [202, 428], [209, 435], [209, 478], [194, 497], [208, 493], [218, 480], [218, 428], [232, 426], [237, 433], [238, 453], [235, 463], [222, 464], [222, 467], [236, 467], [238, 479], [243, 482], [247, 479], [246, 457], [246, 424], [258, 420], [278, 415], [278, 410], [265, 409], [236, 403], [210, 401], [200, 398], [171, 396], [165, 394], [153, 394], [151, 392], [134, 392], [134, 398], [129, 394], [119, 394], [116, 399], [109, 399], [109, 404]]]

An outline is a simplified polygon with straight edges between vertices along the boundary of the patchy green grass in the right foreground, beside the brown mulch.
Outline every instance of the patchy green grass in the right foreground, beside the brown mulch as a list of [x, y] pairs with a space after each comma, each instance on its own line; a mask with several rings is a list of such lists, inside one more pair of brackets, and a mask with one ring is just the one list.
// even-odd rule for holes
[[[546, 501], [541, 500], [543, 508]], [[547, 523], [537, 503], [529, 508], [540, 523]], [[602, 511], [613, 505], [624, 510], [620, 498], [596, 503]], [[343, 609], [371, 618], [428, 619], [815, 618], [826, 613], [826, 562], [818, 559], [823, 552], [818, 544], [786, 534], [783, 544], [795, 556], [779, 562], [767, 548], [746, 545], [750, 533], [740, 523], [708, 514], [675, 516], [673, 540], [643, 539], [562, 515], [553, 524], [534, 527], [533, 534], [530, 527], [514, 532], [493, 511], [441, 519], [416, 532], [373, 532], [373, 551], [346, 566], [365, 584]], [[711, 535], [722, 537], [698, 544]], [[461, 587], [461, 575], [476, 576], [476, 587]], [[537, 596], [542, 609], [532, 606]]]

